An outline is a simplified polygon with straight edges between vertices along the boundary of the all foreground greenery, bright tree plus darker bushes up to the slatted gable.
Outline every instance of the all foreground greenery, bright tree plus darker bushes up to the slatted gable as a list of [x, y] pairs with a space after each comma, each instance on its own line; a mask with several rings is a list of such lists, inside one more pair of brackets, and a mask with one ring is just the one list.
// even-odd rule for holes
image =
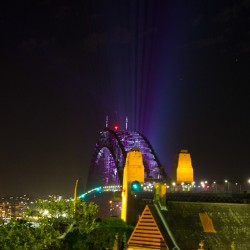
[[80, 199], [38, 200], [21, 220], [0, 225], [0, 249], [119, 249], [133, 228], [119, 218], [98, 220], [98, 206]]

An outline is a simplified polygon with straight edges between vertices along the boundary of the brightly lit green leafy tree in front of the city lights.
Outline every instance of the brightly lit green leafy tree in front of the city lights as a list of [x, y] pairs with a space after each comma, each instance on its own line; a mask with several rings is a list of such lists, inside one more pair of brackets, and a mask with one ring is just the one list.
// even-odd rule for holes
[[22, 220], [0, 226], [0, 249], [65, 249], [66, 236], [89, 234], [97, 227], [98, 206], [77, 199], [38, 200]]

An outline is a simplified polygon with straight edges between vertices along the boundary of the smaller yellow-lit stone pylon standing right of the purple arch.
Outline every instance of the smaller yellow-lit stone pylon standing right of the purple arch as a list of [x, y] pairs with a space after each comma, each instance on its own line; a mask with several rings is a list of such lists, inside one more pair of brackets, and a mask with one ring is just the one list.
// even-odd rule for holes
[[182, 149], [178, 154], [176, 167], [176, 182], [177, 183], [192, 183], [194, 181], [194, 170], [188, 150]]

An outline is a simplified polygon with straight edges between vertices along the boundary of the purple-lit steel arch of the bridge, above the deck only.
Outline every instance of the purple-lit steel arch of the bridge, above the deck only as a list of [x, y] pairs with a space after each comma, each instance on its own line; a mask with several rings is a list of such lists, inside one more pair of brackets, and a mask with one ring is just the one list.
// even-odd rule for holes
[[168, 177], [147, 138], [136, 131], [105, 129], [95, 145], [89, 169], [87, 190], [97, 186], [122, 185], [127, 152], [139, 148], [143, 155], [145, 181]]

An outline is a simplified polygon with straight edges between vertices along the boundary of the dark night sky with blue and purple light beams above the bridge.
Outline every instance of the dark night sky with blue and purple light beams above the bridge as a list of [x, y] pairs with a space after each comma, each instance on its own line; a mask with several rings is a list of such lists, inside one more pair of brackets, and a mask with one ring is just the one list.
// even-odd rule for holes
[[169, 175], [250, 177], [249, 0], [1, 1], [0, 32], [0, 195], [83, 190], [106, 115]]

